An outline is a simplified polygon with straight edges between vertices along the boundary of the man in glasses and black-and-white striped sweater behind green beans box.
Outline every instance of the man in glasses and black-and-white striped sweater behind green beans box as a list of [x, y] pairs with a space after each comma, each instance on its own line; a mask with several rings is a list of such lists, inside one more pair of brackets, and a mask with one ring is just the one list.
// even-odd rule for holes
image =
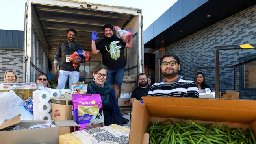
[[165, 79], [151, 86], [149, 96], [175, 96], [199, 98], [197, 85], [194, 81], [178, 75], [180, 59], [174, 54], [162, 57], [161, 72]]

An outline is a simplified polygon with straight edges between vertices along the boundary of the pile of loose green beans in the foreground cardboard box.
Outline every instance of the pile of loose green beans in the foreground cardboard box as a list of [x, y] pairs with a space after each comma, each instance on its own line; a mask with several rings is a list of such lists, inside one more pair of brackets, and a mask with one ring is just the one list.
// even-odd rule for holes
[[[150, 144], [256, 144], [252, 127], [242, 131], [241, 128], [230, 128], [226, 124], [182, 123], [167, 119], [163, 122], [150, 122], [147, 132]], [[167, 124], [167, 122], [171, 122]]]

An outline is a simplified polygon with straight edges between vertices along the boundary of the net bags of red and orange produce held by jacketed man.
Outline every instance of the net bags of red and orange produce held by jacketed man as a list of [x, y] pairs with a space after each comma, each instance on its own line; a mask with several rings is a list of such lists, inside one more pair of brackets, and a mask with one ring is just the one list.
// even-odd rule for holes
[[[84, 59], [85, 61], [90, 60], [90, 53], [85, 50], [78, 50], [73, 52], [73, 54], [70, 55], [69, 61], [73, 61], [74, 58], [77, 59]], [[73, 63], [74, 68], [77, 68], [80, 65], [80, 63]]]

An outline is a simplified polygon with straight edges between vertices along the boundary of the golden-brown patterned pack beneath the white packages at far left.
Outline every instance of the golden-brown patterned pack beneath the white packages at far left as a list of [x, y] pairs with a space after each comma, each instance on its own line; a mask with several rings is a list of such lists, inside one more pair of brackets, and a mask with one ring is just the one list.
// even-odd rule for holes
[[[37, 89], [13, 89], [15, 94], [19, 96], [22, 100], [28, 101], [32, 96], [33, 92]], [[3, 92], [9, 92], [10, 90], [0, 90], [0, 94]]]

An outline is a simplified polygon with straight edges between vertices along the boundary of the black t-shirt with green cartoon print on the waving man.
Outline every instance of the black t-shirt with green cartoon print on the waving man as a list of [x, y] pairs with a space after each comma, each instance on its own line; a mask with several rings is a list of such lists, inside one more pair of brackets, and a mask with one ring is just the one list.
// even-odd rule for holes
[[109, 70], [126, 66], [124, 46], [125, 43], [116, 37], [112, 41], [103, 39], [96, 44], [97, 50], [100, 50], [102, 55], [103, 64]]

